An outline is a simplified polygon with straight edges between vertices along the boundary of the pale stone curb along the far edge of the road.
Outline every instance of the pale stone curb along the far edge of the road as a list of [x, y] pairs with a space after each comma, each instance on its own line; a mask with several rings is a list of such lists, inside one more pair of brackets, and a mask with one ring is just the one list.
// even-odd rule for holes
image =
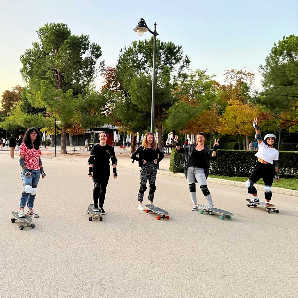
[[[69, 157], [54, 157], [54, 156], [42, 156], [43, 158], [49, 158], [49, 159], [60, 159], [60, 160], [73, 160], [73, 158]], [[77, 162], [86, 162], [86, 161], [78, 161]], [[133, 166], [127, 166], [127, 165], [121, 165], [118, 164], [117, 167], [121, 167], [124, 169], [129, 169], [129, 170], [139, 170], [139, 167], [133, 167]], [[158, 174], [161, 175], [166, 175], [166, 176], [173, 176], [173, 177], [179, 177], [179, 178], [184, 178], [184, 173], [173, 173], [168, 170], [157, 170]], [[207, 178], [208, 182], [211, 183], [216, 183], [216, 184], [223, 184], [223, 185], [229, 185], [229, 186], [235, 186], [235, 187], [241, 187], [241, 188], [246, 188], [245, 182], [241, 181], [232, 181], [232, 180], [227, 180], [227, 179], [218, 179], [218, 178]], [[254, 184], [255, 188], [257, 190], [264, 190], [263, 185], [259, 184]], [[298, 190], [292, 190], [292, 189], [287, 189], [287, 188], [281, 188], [281, 187], [271, 187], [272, 193], [279, 193], [281, 195], [291, 195], [294, 197], [298, 197]]]

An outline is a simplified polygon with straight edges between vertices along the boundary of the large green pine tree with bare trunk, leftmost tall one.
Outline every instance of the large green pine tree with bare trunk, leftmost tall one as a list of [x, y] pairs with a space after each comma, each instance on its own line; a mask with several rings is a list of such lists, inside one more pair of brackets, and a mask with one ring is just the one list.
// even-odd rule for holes
[[75, 103], [79, 94], [83, 101], [96, 76], [96, 63], [102, 52], [88, 35], [71, 35], [66, 24], [45, 24], [37, 35], [40, 41], [21, 55], [21, 74], [31, 91], [28, 99], [32, 106], [46, 106], [61, 120], [61, 153], [66, 153], [66, 129], [74, 116], [74, 109], [66, 103]]

